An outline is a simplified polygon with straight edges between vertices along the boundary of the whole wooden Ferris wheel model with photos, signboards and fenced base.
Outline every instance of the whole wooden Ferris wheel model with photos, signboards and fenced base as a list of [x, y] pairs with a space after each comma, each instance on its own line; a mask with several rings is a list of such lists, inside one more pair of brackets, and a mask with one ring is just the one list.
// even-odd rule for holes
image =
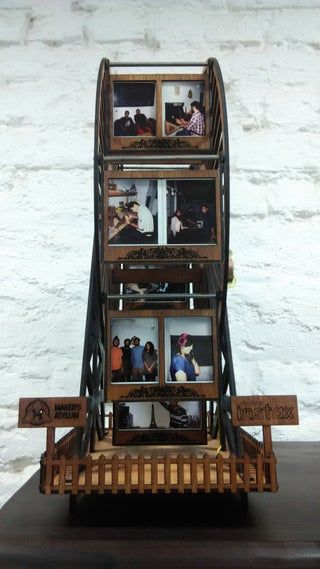
[[[271, 426], [297, 424], [297, 402], [236, 395], [217, 60], [103, 59], [94, 136], [80, 394], [20, 400], [19, 426], [47, 429], [40, 491], [68, 494], [72, 508], [91, 493], [275, 492]], [[246, 425], [262, 427], [262, 441]], [[71, 430], [56, 442], [57, 427]]]

